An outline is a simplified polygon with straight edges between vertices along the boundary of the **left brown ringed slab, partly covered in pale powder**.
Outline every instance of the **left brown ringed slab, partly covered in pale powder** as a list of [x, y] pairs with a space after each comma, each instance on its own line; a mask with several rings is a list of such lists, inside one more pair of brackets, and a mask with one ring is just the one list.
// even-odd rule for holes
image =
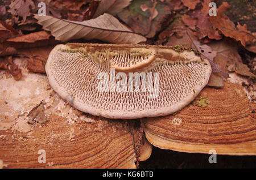
[[[150, 157], [152, 145], [131, 121], [77, 111], [46, 75], [15, 63], [22, 79], [0, 71], [0, 168], [136, 168], [137, 159]], [[43, 151], [46, 163], [39, 163]]]

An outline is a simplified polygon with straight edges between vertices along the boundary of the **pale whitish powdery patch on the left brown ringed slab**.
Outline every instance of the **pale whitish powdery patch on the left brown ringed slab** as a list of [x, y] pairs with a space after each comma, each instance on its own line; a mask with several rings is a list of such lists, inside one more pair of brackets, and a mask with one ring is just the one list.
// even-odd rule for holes
[[[30, 125], [28, 121], [32, 118], [40, 122], [39, 117], [33, 117], [31, 112], [41, 103], [43, 108], [39, 113], [48, 120], [50, 115], [59, 115], [67, 119], [67, 125], [72, 125], [79, 119], [75, 109], [53, 91], [46, 75], [29, 73], [19, 59], [15, 63], [22, 69], [22, 79], [15, 80], [6, 71], [0, 71], [0, 131], [32, 130], [34, 125]], [[80, 115], [80, 120], [82, 119], [93, 122], [84, 114]]]

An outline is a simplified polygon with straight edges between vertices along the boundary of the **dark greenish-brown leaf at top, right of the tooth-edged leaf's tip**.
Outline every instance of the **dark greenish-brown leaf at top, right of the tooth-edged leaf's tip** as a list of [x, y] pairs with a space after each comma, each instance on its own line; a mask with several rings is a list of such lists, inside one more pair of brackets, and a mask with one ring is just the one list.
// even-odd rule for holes
[[[150, 10], [146, 10], [146, 6]], [[144, 11], [143, 11], [144, 10]], [[151, 38], [170, 22], [172, 11], [161, 1], [133, 0], [131, 4], [117, 14], [134, 32]]]

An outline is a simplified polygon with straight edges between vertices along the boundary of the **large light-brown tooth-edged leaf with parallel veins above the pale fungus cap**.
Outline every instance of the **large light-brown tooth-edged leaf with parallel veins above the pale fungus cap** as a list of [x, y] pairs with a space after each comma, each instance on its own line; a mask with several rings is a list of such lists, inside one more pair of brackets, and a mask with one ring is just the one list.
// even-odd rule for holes
[[97, 39], [117, 44], [137, 44], [146, 41], [145, 37], [130, 31], [114, 16], [106, 13], [96, 19], [85, 20], [84, 22], [73, 22], [52, 16], [35, 15], [35, 18], [38, 19], [39, 24], [43, 25], [43, 29], [51, 31], [56, 40], [60, 41], [79, 38]]

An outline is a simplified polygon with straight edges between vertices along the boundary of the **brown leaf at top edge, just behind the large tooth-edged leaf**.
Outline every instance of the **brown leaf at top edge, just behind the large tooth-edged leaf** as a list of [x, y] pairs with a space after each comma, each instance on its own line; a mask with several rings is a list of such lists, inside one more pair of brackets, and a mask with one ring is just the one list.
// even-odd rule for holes
[[123, 8], [129, 6], [130, 2], [131, 0], [101, 0], [93, 18], [97, 18], [104, 12], [114, 16], [121, 12]]

